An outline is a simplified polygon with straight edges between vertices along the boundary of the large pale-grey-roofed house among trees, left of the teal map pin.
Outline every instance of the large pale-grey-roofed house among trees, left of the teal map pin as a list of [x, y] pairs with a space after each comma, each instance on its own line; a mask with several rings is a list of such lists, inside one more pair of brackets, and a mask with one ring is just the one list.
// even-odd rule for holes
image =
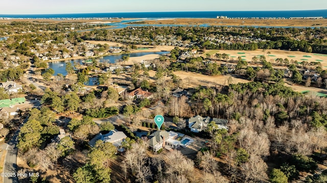
[[111, 130], [108, 134], [98, 134], [95, 138], [91, 139], [89, 145], [94, 147], [98, 140], [102, 140], [103, 142], [110, 142], [115, 147], [118, 148], [118, 151], [123, 152], [124, 148], [122, 147], [122, 142], [127, 138], [124, 132], [119, 132], [114, 129]]

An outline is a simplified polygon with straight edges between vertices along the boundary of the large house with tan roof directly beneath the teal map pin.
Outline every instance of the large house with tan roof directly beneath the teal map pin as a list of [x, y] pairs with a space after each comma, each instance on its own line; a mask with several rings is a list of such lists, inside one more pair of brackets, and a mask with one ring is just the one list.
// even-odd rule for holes
[[154, 152], [161, 148], [178, 148], [180, 146], [179, 141], [175, 140], [178, 134], [175, 132], [167, 132], [166, 130], [158, 130], [150, 135], [149, 146]]

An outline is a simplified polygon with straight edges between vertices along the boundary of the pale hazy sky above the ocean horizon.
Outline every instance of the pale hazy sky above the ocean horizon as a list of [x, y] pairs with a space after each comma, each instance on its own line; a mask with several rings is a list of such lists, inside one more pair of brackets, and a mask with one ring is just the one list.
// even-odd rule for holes
[[0, 14], [327, 9], [326, 0], [1, 0]]

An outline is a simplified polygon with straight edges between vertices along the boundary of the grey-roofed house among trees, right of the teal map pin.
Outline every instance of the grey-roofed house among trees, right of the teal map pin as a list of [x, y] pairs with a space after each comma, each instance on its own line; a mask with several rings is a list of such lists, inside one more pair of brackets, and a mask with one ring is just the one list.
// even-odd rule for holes
[[211, 121], [214, 121], [217, 124], [218, 129], [228, 129], [226, 119], [201, 117], [197, 115], [195, 117], [190, 118], [188, 121], [191, 132], [195, 133], [199, 133], [204, 130]]

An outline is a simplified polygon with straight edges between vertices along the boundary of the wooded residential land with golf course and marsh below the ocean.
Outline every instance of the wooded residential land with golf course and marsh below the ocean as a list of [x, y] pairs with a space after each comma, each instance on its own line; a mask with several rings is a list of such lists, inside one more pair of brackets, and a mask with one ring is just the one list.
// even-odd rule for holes
[[324, 182], [325, 19], [215, 17], [0, 18], [0, 178]]

